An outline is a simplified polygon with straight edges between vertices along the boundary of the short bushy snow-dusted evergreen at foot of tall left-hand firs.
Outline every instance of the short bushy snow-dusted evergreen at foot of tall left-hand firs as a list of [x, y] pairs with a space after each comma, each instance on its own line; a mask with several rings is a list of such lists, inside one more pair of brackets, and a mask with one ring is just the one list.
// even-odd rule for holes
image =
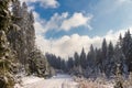
[[46, 77], [50, 75], [50, 65], [45, 56], [38, 50], [34, 50], [33, 52], [31, 52], [31, 54], [29, 55], [28, 65], [29, 74], [35, 74], [40, 77]]

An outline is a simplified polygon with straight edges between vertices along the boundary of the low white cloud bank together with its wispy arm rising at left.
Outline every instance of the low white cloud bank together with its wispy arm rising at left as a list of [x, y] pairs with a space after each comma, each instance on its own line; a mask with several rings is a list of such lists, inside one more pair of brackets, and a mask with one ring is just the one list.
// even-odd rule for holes
[[[69, 19], [67, 20], [69, 14], [68, 12], [62, 14], [55, 13], [50, 21], [45, 21], [42, 20], [36, 12], [33, 13], [35, 18], [34, 26], [36, 31], [36, 45], [38, 46], [38, 48], [43, 53], [50, 52], [65, 58], [67, 58], [68, 56], [73, 56], [75, 52], [80, 53], [82, 47], [86, 50], [86, 53], [88, 53], [89, 46], [91, 44], [94, 44], [95, 47], [100, 47], [101, 42], [105, 37], [107, 38], [108, 42], [112, 41], [113, 44], [116, 44], [120, 33], [122, 33], [123, 35], [124, 32], [127, 31], [127, 30], [120, 30], [113, 33], [113, 31], [110, 30], [105, 36], [95, 36], [95, 37], [89, 37], [88, 35], [80, 36], [78, 34], [73, 34], [70, 36], [64, 35], [63, 37], [57, 40], [52, 40], [52, 38], [46, 40], [43, 34], [47, 30], [52, 30], [54, 28], [59, 29], [63, 22], [69, 20]], [[130, 29], [130, 31], [132, 33], [132, 29]]]

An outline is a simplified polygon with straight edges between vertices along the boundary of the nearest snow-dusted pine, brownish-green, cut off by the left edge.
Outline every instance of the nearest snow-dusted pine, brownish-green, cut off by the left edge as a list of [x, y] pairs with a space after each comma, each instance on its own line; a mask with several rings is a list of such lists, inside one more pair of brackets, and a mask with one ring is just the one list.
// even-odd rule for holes
[[14, 85], [14, 55], [7, 40], [7, 34], [12, 25], [10, 2], [11, 0], [0, 0], [0, 88], [12, 88]]

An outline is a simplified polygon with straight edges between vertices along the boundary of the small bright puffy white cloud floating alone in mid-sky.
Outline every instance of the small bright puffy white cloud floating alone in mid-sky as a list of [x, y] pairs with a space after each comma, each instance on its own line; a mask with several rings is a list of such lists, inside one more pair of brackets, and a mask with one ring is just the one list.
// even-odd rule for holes
[[[78, 28], [81, 25], [90, 26], [88, 23], [90, 22], [92, 16], [85, 16], [82, 13], [74, 13], [72, 18], [63, 21], [61, 29], [65, 31], [69, 31], [73, 28]], [[90, 28], [89, 28], [90, 29]]]

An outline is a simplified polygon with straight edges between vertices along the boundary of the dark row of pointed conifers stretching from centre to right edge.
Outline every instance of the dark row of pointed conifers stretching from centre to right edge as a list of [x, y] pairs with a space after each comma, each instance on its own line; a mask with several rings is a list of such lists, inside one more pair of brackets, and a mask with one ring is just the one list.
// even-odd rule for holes
[[[69, 50], [70, 51], [70, 50]], [[128, 76], [132, 72], [132, 36], [130, 31], [124, 36], [120, 34], [116, 45], [103, 38], [101, 47], [94, 47], [91, 44], [89, 52], [82, 47], [81, 53], [75, 52], [68, 61], [46, 53], [47, 61], [55, 69], [85, 77], [98, 77], [102, 74], [111, 78], [116, 76], [117, 67], [120, 66], [121, 75]]]

